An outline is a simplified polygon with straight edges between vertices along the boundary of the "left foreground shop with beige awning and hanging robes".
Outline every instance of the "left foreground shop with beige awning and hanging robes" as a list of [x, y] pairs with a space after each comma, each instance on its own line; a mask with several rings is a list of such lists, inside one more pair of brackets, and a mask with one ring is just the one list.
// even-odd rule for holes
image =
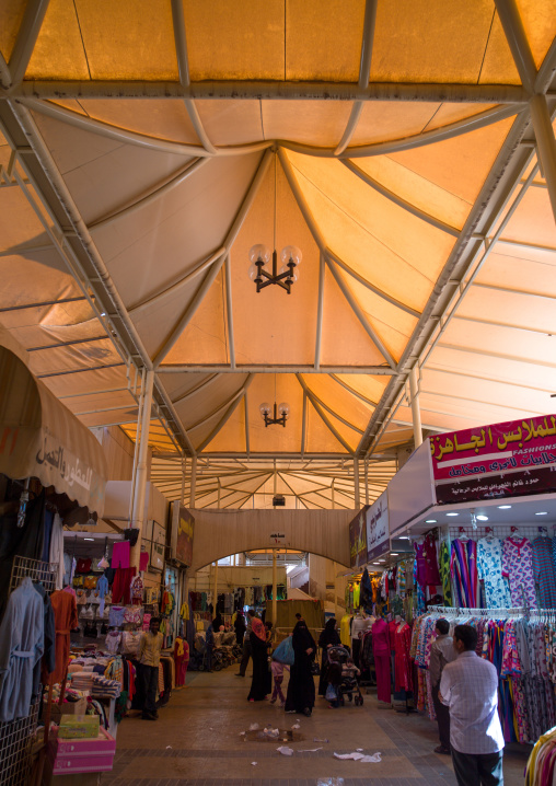
[[[0, 782], [56, 767], [76, 593], [65, 588], [63, 529], [104, 508], [101, 446], [34, 377], [27, 355], [0, 345]], [[56, 704], [54, 704], [56, 702]], [[37, 728], [40, 729], [37, 732]], [[91, 735], [111, 748], [92, 717]], [[60, 732], [61, 736], [62, 732]], [[53, 763], [54, 762], [54, 763]], [[34, 772], [32, 774], [32, 770]]]

